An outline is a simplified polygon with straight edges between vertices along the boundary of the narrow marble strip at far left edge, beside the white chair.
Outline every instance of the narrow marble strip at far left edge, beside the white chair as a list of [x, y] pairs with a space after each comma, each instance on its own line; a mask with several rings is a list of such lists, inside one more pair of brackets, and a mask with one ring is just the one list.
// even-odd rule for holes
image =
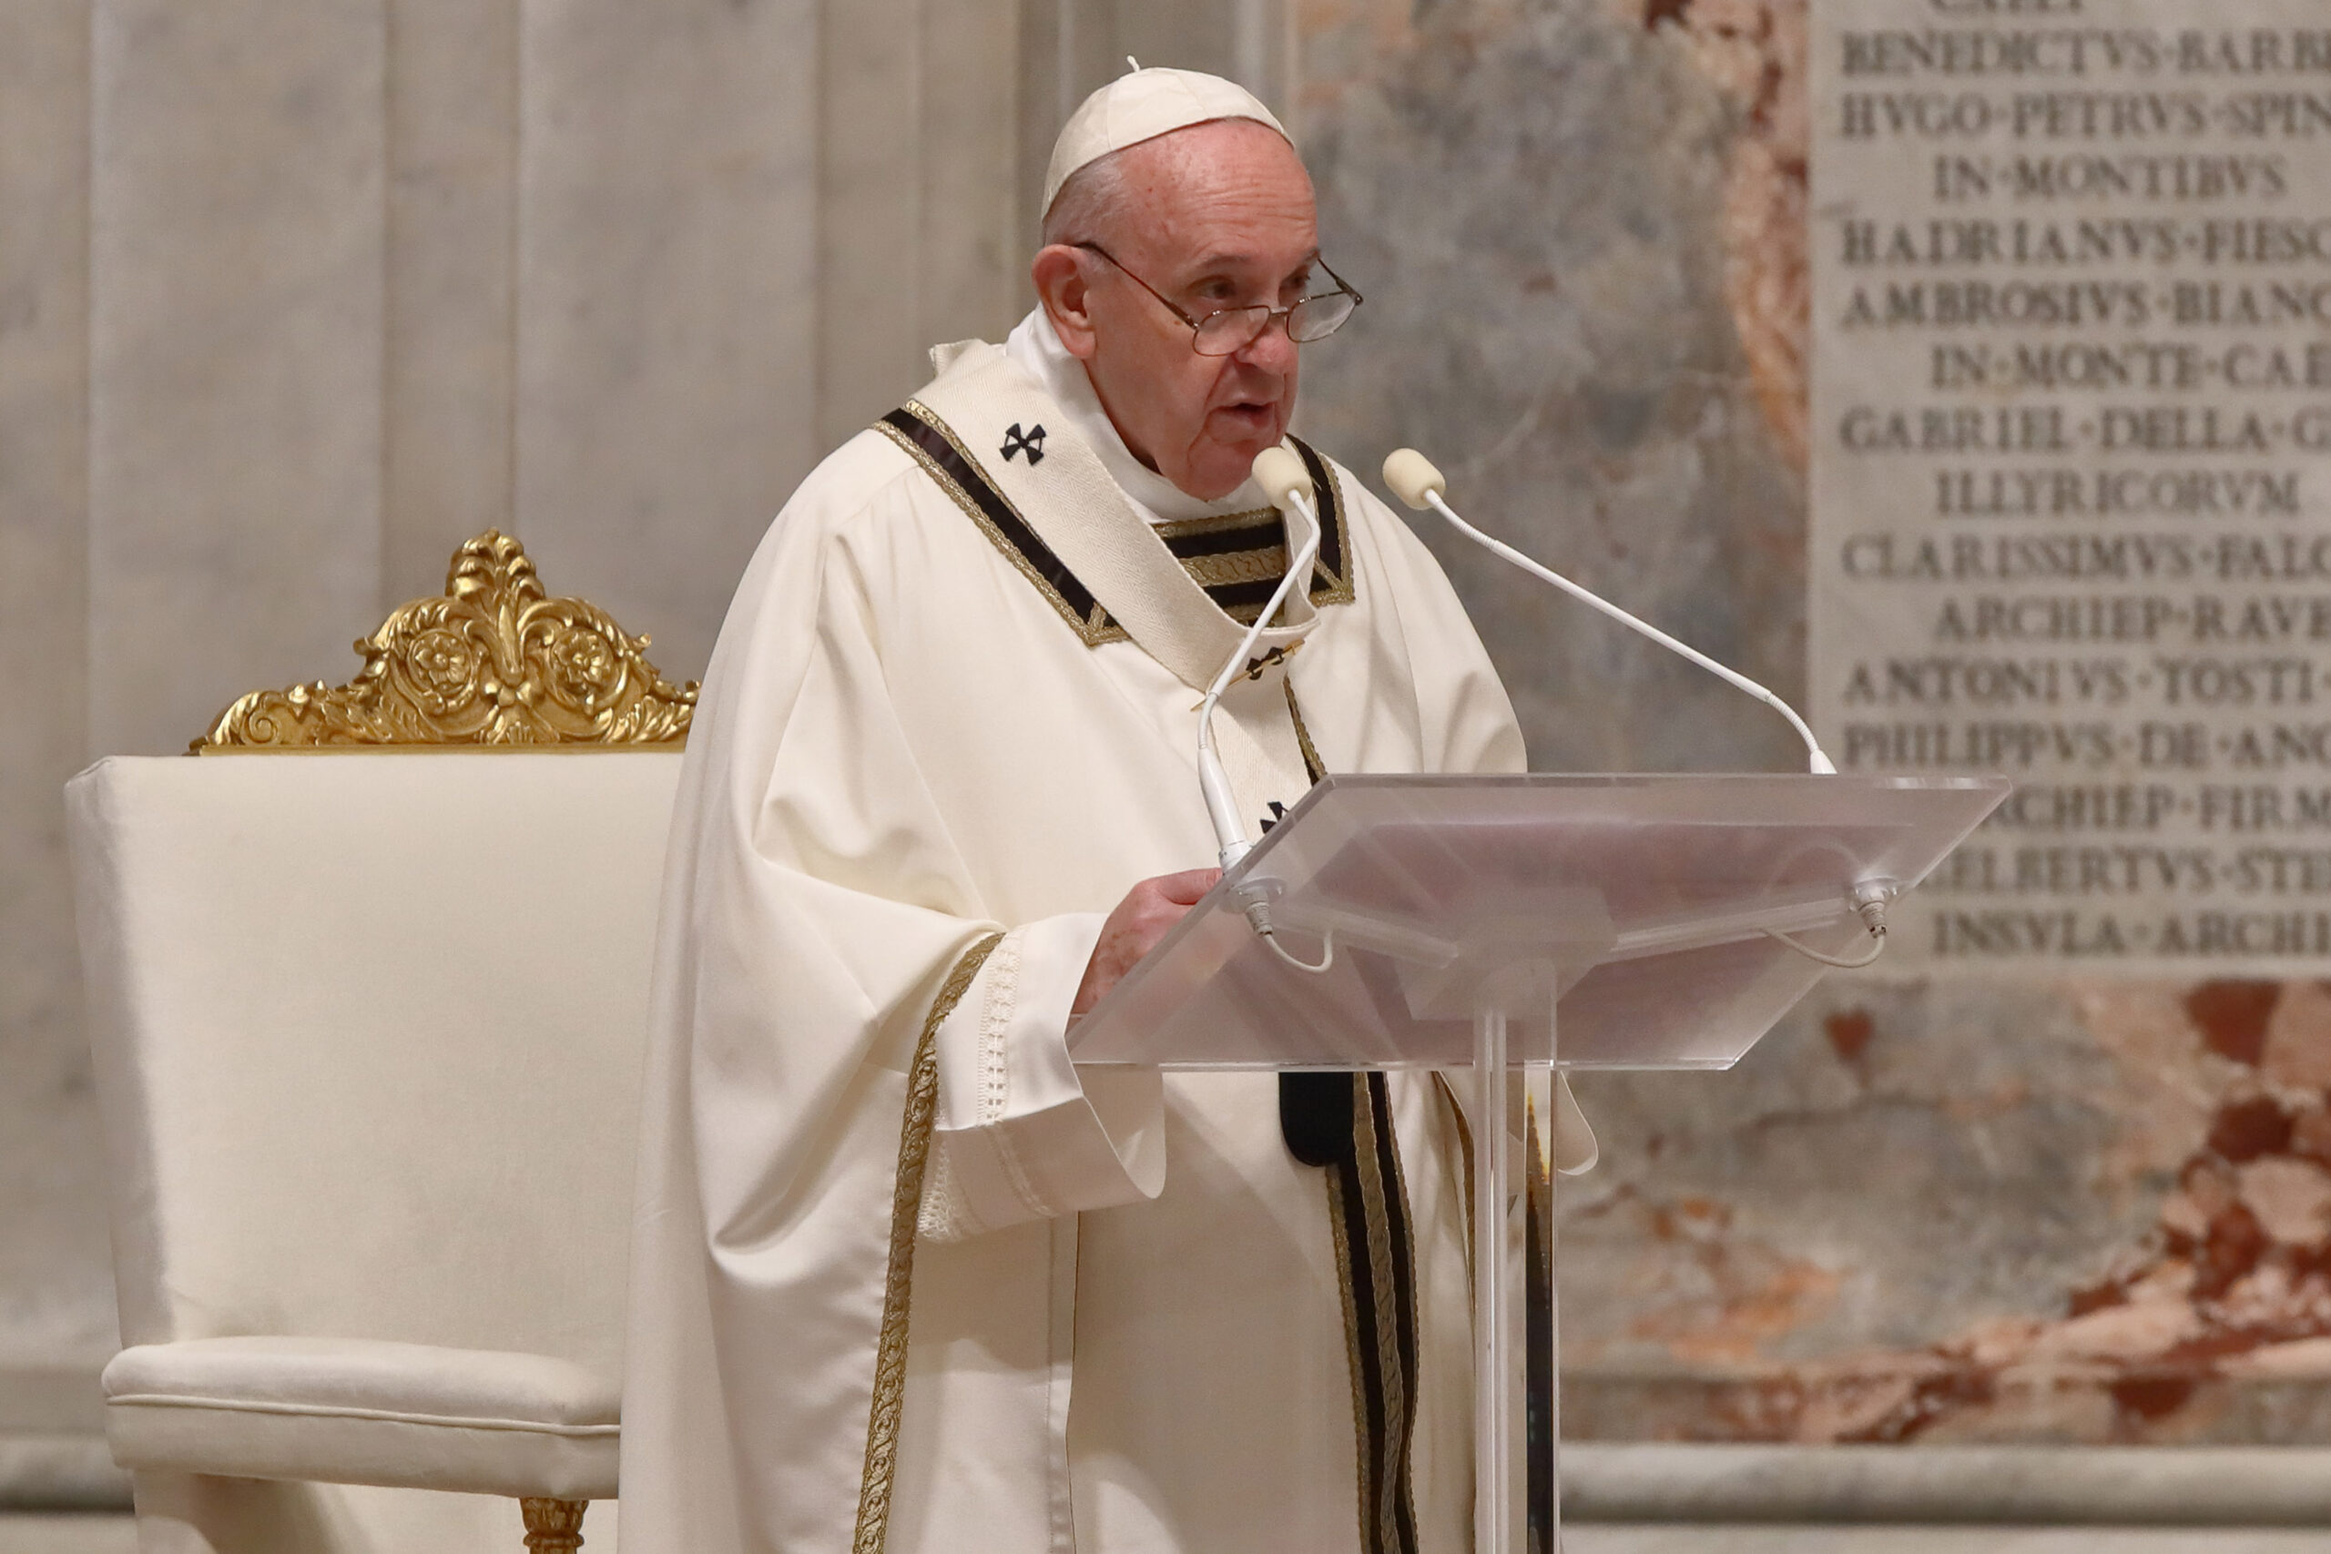
[[86, 172], [89, 0], [0, 7], [0, 1372], [114, 1344], [58, 804], [89, 750]]

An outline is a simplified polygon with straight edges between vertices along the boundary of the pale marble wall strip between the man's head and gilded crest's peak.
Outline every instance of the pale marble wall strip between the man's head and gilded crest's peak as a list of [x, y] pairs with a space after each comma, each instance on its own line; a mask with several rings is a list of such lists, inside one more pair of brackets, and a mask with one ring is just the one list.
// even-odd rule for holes
[[517, 112], [515, 531], [702, 673], [821, 452], [811, 0], [536, 0]]

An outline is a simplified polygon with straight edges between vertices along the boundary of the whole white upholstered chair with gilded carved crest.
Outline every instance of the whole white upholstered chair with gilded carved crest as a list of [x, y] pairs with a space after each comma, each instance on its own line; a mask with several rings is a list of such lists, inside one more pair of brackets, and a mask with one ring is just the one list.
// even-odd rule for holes
[[510, 1496], [571, 1549], [615, 1496], [692, 706], [641, 645], [490, 534], [352, 685], [72, 780], [145, 1554], [515, 1547], [506, 1505], [380, 1489]]

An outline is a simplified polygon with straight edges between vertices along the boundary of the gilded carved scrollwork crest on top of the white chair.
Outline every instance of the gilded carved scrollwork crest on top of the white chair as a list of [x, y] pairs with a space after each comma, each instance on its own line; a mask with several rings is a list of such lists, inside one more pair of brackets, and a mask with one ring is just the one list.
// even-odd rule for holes
[[256, 690], [196, 755], [380, 746], [688, 743], [697, 685], [671, 685], [594, 603], [552, 599], [524, 548], [487, 529], [452, 555], [441, 599], [415, 599], [357, 643], [347, 685]]

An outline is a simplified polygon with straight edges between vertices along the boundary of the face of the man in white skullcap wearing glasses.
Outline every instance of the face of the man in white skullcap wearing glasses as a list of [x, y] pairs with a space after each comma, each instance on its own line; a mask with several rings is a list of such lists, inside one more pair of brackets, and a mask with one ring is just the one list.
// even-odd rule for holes
[[[1037, 291], [1063, 345], [1084, 359], [1126, 447], [1203, 501], [1228, 496], [1254, 457], [1287, 436], [1296, 345], [1287, 324], [1235, 356], [1200, 356], [1189, 324], [1221, 308], [1287, 308], [1312, 291], [1317, 210], [1303, 163], [1268, 126], [1217, 119], [1121, 151], [1128, 210], [1103, 247], [1037, 254]], [[1047, 256], [1072, 254], [1075, 275]], [[1061, 284], [1047, 287], [1049, 275]], [[1131, 270], [1131, 275], [1126, 275]]]

